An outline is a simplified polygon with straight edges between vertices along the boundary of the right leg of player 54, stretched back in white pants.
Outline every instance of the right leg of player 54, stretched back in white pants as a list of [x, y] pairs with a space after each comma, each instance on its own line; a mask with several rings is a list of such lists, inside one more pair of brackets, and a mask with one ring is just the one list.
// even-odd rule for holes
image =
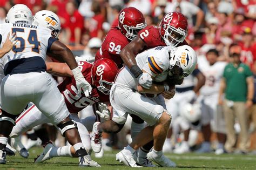
[[91, 160], [90, 155], [87, 154], [76, 124], [68, 117], [69, 111], [66, 108], [64, 97], [51, 80], [49, 74], [41, 73], [38, 78], [40, 79], [36, 81], [37, 85], [34, 86], [35, 99], [32, 102], [53, 124], [61, 129], [62, 135], [75, 148], [79, 156], [79, 165], [98, 167], [97, 162]]

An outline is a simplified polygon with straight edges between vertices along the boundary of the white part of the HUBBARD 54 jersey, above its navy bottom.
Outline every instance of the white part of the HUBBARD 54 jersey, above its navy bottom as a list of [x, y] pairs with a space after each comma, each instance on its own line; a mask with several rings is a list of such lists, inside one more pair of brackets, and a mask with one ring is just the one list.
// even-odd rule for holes
[[3, 66], [11, 60], [41, 57], [46, 59], [48, 40], [51, 37], [51, 30], [41, 26], [29, 25], [25, 23], [0, 24], [0, 35], [2, 37], [1, 46], [5, 42], [8, 33], [15, 32], [17, 44], [2, 58]]

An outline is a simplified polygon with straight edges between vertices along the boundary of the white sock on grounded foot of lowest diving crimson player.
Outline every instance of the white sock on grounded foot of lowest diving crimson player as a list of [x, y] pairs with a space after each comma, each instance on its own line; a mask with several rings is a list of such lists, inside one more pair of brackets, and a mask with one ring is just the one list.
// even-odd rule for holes
[[72, 157], [71, 145], [63, 147], [53, 147], [50, 152], [50, 157]]

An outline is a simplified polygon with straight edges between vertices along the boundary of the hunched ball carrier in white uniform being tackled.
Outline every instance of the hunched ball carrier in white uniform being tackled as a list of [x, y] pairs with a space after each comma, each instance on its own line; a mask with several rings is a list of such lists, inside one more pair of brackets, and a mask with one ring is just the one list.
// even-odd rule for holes
[[171, 115], [166, 110], [164, 97], [158, 95], [149, 98], [143, 93], [160, 94], [169, 91], [170, 86], [165, 83], [167, 77], [188, 76], [196, 67], [196, 52], [188, 45], [177, 48], [158, 46], [137, 55], [136, 62], [143, 73], [150, 74], [156, 84], [152, 84], [150, 89], [145, 89], [140, 86], [138, 79], [127, 66], [120, 70], [110, 92], [112, 121], [124, 124], [127, 114], [135, 114], [146, 121], [148, 126], [138, 133], [130, 145], [117, 153], [116, 159], [127, 166], [137, 167], [133, 159], [134, 152], [153, 139], [153, 149], [147, 153], [147, 159], [161, 167], [175, 167], [176, 164], [167, 159], [162, 151], [171, 123]]

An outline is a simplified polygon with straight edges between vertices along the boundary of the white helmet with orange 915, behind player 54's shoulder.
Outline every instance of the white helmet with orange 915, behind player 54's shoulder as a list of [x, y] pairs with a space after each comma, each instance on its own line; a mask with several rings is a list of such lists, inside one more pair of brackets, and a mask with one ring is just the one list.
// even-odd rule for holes
[[59, 17], [54, 12], [48, 10], [38, 11], [33, 17], [33, 24], [50, 29], [55, 38], [58, 38], [62, 29]]

